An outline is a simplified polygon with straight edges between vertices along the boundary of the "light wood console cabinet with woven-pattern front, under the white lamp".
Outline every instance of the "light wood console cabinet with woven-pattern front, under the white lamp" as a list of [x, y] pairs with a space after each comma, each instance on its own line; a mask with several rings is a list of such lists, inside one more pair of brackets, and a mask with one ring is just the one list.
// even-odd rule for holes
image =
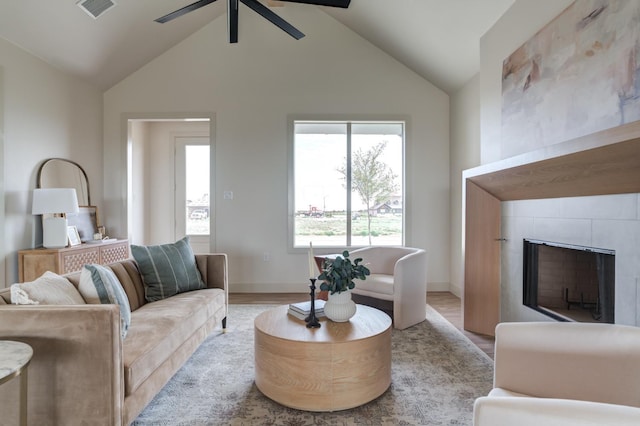
[[18, 252], [18, 278], [20, 282], [33, 281], [46, 271], [69, 274], [82, 269], [87, 263], [106, 265], [129, 257], [129, 240], [114, 240], [98, 244], [59, 249], [38, 248]]

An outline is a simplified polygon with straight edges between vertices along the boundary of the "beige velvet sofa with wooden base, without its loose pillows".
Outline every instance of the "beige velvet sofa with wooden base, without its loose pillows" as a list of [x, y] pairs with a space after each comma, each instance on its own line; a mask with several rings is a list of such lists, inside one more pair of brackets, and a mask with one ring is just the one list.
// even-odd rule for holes
[[[33, 347], [28, 419], [34, 425], [128, 425], [214, 330], [226, 326], [227, 257], [196, 255], [206, 289], [147, 303], [134, 260], [109, 265], [131, 305], [123, 340], [117, 305], [10, 305], [0, 291], [0, 339]], [[80, 273], [67, 278], [76, 287]], [[0, 387], [2, 422], [17, 392]], [[0, 422], [1, 423], [1, 422]]]

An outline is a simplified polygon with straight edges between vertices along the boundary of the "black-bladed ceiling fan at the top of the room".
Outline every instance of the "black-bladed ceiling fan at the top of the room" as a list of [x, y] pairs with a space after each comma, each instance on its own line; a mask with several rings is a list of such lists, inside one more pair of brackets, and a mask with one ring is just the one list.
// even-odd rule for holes
[[[165, 22], [172, 21], [182, 15], [185, 15], [189, 12], [193, 12], [194, 10], [200, 9], [203, 6], [211, 4], [216, 0], [199, 0], [195, 3], [192, 3], [188, 6], [180, 8], [176, 11], [173, 11], [167, 15], [164, 15], [158, 19], [156, 22], [164, 24]], [[305, 3], [305, 4], [314, 4], [318, 6], [331, 6], [331, 7], [342, 7], [348, 8], [351, 0], [280, 0], [283, 2], [289, 3]], [[245, 6], [248, 6], [253, 11], [257, 12], [263, 18], [267, 19], [275, 26], [289, 34], [291, 37], [296, 40], [300, 40], [304, 37], [304, 34], [299, 31], [296, 27], [282, 19], [275, 12], [271, 11], [267, 6], [260, 3], [258, 0], [227, 0], [227, 20], [229, 24], [229, 43], [237, 43], [238, 42], [238, 4], [242, 2]]]

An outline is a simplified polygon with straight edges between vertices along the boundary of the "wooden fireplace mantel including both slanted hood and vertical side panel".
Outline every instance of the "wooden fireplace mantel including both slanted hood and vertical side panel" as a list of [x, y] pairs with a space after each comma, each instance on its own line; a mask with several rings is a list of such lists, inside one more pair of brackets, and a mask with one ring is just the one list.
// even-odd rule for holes
[[494, 335], [501, 236], [486, 228], [500, 229], [500, 202], [640, 192], [640, 121], [465, 170], [463, 182], [464, 328]]

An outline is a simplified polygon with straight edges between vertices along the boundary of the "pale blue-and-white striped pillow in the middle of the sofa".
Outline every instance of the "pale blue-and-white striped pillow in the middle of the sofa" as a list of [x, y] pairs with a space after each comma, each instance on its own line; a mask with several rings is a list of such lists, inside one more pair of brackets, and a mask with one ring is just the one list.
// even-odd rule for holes
[[114, 304], [120, 307], [120, 335], [127, 337], [131, 324], [129, 299], [111, 269], [88, 264], [82, 267], [78, 290], [89, 304]]

